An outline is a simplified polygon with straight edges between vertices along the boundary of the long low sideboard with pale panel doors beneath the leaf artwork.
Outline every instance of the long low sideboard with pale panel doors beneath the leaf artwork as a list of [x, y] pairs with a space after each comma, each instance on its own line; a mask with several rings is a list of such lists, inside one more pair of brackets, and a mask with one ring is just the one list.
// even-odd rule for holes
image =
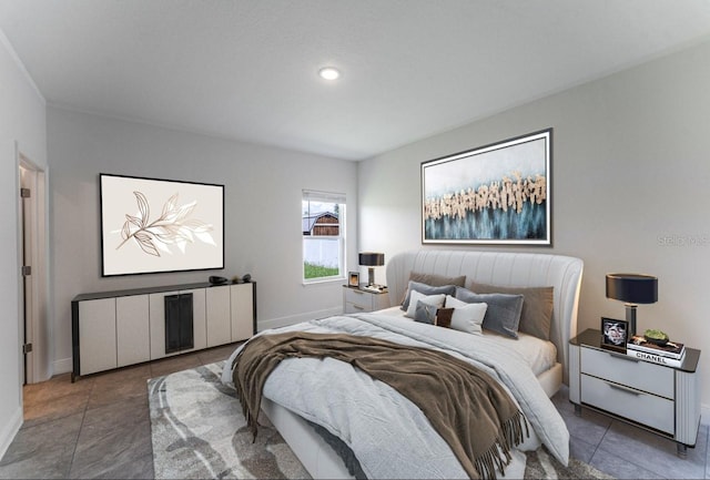
[[[190, 344], [166, 345], [166, 298], [190, 296]], [[184, 309], [183, 309], [184, 310]], [[256, 283], [171, 285], [72, 299], [72, 381], [81, 375], [241, 341], [256, 333]]]

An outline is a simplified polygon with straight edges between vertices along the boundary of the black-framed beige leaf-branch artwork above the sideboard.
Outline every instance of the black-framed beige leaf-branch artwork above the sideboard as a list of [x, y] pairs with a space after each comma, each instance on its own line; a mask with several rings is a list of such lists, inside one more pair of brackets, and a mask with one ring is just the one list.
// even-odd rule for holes
[[101, 276], [224, 268], [224, 185], [99, 174]]

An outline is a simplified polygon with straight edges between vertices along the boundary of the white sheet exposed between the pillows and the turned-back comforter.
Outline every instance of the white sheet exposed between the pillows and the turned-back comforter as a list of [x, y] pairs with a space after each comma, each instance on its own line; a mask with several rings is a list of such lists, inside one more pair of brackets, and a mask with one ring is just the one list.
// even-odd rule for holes
[[[410, 318], [404, 316], [405, 312], [397, 306], [385, 308], [376, 313], [402, 317], [410, 320]], [[457, 334], [471, 335], [463, 331], [459, 331]], [[537, 337], [524, 334], [521, 331], [518, 331], [517, 340], [489, 330], [484, 330], [483, 335], [490, 341], [499, 345], [500, 348], [510, 349], [519, 354], [530, 366], [530, 369], [536, 376], [549, 370], [557, 362], [557, 347], [555, 347], [555, 344], [552, 344], [551, 341], [541, 340]]]

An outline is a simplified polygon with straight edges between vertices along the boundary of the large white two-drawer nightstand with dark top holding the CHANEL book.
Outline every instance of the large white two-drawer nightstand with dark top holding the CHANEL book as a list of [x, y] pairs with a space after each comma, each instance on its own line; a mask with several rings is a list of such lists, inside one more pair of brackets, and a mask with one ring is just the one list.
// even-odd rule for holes
[[700, 426], [700, 350], [686, 347], [680, 367], [601, 348], [588, 329], [569, 340], [569, 401], [674, 440], [678, 455], [696, 446]]

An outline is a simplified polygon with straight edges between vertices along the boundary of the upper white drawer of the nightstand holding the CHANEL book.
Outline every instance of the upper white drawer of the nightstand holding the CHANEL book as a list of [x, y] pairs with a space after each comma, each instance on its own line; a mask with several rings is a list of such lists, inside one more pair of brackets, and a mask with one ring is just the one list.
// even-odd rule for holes
[[674, 370], [661, 365], [627, 359], [594, 348], [581, 348], [581, 372], [669, 400], [674, 399]]

